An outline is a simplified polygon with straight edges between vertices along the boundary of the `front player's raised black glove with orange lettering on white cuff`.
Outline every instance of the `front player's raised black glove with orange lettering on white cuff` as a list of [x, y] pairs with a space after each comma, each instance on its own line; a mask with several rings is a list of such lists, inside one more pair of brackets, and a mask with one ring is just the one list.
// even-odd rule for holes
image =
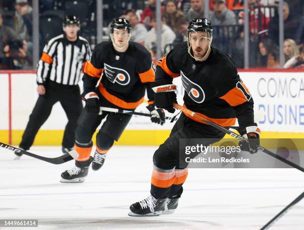
[[165, 109], [169, 113], [173, 114], [175, 109], [173, 108], [173, 103], [176, 101], [176, 86], [173, 84], [162, 85], [153, 87], [154, 95], [154, 104], [158, 108]]

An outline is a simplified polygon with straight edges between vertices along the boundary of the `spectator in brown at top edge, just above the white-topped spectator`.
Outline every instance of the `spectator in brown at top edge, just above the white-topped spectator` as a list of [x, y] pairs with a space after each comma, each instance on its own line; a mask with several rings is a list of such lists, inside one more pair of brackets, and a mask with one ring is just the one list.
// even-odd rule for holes
[[167, 0], [164, 7], [164, 16], [166, 24], [175, 32], [179, 31], [180, 18], [184, 16], [184, 13], [177, 8], [177, 3], [174, 0]]

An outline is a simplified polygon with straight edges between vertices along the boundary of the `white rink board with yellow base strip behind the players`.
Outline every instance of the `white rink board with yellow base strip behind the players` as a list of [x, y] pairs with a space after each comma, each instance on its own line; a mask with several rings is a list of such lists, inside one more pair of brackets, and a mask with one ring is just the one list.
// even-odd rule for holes
[[[239, 75], [253, 99], [255, 113], [264, 111], [258, 125], [263, 138], [304, 138], [304, 73], [278, 70], [241, 70]], [[182, 104], [183, 87], [179, 78], [178, 102]], [[80, 82], [80, 89], [82, 88]], [[36, 103], [36, 75], [33, 71], [0, 72], [0, 141], [18, 144], [29, 115]], [[147, 101], [138, 112], [148, 113]], [[166, 115], [170, 115], [166, 113]], [[61, 145], [67, 117], [59, 103], [38, 132], [34, 145]], [[170, 133], [173, 123], [152, 124], [149, 117], [134, 116], [117, 144], [158, 145]], [[95, 137], [93, 137], [93, 140]]]

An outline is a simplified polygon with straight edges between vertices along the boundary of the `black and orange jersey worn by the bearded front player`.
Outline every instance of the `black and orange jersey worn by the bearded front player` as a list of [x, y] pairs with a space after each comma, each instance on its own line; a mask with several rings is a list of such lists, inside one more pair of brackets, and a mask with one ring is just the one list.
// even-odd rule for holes
[[223, 51], [211, 47], [208, 59], [201, 62], [189, 55], [187, 42], [177, 45], [158, 61], [155, 85], [172, 84], [179, 76], [184, 107], [221, 126], [234, 125], [236, 117], [240, 126], [254, 122], [252, 97]]

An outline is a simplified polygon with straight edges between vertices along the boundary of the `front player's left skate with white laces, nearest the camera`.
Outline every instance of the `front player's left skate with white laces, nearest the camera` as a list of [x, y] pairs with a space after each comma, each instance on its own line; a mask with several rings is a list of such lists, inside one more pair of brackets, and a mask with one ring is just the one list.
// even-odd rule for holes
[[150, 195], [148, 198], [131, 205], [131, 212], [128, 215], [131, 217], [159, 216], [164, 210], [165, 203], [166, 198], [156, 199]]

